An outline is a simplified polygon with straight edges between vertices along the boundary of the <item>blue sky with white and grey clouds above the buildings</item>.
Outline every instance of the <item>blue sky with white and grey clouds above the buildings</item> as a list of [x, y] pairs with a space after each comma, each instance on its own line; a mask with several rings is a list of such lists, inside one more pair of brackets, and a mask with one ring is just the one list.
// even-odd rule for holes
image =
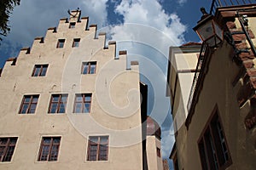
[[[168, 158], [174, 143], [166, 72], [170, 46], [200, 42], [193, 31], [201, 19], [201, 7], [209, 12], [211, 0], [21, 0], [9, 19], [11, 31], [0, 45], [0, 68], [20, 48], [30, 47], [34, 37], [44, 37], [49, 27], [67, 18], [68, 9], [80, 8], [106, 31], [108, 41], [128, 51], [128, 61], [138, 60], [141, 81], [148, 84], [148, 115], [162, 130], [162, 156]], [[128, 65], [129, 67], [129, 65]], [[172, 168], [171, 168], [172, 169]]]

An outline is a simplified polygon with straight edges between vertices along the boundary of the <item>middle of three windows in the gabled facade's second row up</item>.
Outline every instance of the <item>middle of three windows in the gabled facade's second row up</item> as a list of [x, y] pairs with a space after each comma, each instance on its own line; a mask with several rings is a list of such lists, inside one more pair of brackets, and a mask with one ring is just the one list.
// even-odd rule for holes
[[49, 101], [49, 113], [65, 113], [67, 94], [52, 94]]

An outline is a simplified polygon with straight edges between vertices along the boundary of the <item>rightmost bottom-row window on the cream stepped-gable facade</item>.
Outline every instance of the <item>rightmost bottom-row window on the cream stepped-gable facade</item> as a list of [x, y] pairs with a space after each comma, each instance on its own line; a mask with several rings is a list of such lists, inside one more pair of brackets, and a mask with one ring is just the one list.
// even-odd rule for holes
[[108, 161], [108, 136], [91, 136], [87, 161]]

